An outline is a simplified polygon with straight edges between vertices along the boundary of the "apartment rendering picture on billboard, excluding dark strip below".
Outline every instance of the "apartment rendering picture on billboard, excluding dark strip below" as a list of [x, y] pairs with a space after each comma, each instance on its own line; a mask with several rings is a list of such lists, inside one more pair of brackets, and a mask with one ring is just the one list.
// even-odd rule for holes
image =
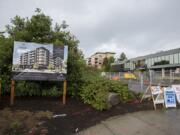
[[67, 73], [67, 46], [14, 42], [13, 72]]

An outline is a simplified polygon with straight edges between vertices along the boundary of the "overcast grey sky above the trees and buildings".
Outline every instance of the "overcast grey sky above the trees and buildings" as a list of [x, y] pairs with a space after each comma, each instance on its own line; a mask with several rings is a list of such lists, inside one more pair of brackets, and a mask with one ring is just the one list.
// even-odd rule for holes
[[66, 20], [86, 57], [96, 51], [128, 58], [180, 47], [180, 0], [0, 0], [0, 31], [35, 8]]

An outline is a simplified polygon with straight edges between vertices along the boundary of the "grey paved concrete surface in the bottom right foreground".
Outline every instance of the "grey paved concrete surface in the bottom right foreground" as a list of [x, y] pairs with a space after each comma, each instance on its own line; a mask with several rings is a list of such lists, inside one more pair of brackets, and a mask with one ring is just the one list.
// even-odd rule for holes
[[180, 110], [120, 115], [102, 121], [78, 135], [180, 135]]

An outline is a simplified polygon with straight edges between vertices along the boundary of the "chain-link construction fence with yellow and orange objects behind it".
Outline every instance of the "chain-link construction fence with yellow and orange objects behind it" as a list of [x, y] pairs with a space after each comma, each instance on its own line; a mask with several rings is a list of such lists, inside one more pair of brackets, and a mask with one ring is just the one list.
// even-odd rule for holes
[[136, 71], [136, 72], [103, 72], [103, 76], [123, 81], [128, 84], [129, 90], [134, 92], [143, 92], [149, 85], [171, 86], [172, 84], [180, 84], [180, 72], [175, 70], [162, 71]]

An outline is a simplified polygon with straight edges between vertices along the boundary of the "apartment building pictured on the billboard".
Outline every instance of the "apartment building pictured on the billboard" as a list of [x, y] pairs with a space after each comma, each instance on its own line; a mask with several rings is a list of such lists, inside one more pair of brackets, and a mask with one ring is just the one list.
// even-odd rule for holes
[[44, 47], [36, 48], [35, 50], [21, 54], [20, 67], [21, 68], [33, 68], [35, 64], [38, 68], [46, 69], [49, 65], [50, 52]]

